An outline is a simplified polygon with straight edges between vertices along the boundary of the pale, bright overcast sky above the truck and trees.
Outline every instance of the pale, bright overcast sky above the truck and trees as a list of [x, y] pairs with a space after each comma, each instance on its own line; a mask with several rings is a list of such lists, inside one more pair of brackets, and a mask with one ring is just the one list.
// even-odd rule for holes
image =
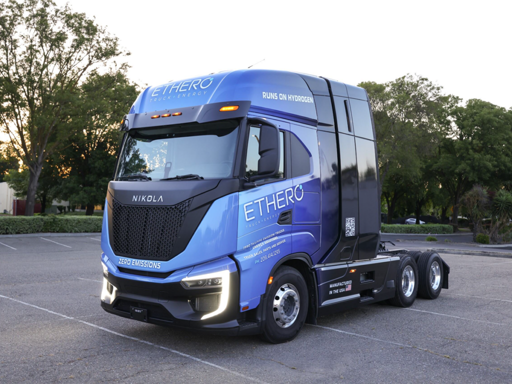
[[[56, 0], [58, 5], [66, 1]], [[144, 87], [277, 69], [349, 84], [407, 73], [512, 108], [512, 2], [72, 0], [120, 39]]]

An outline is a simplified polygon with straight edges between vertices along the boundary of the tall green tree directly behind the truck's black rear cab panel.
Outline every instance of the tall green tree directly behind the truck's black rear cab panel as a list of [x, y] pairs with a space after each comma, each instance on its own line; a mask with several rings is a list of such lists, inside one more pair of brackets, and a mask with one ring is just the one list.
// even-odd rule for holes
[[422, 76], [402, 76], [385, 84], [362, 82], [372, 104], [381, 193], [391, 223], [397, 201], [411, 200], [416, 223], [428, 191], [425, 165], [434, 156], [447, 111], [458, 98]]

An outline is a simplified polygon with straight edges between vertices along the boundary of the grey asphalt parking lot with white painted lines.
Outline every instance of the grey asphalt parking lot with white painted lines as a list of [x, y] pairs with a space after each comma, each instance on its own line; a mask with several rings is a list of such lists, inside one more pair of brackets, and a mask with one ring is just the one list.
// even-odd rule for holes
[[443, 254], [437, 300], [321, 317], [270, 345], [107, 314], [99, 239], [0, 239], [0, 382], [510, 382], [511, 259]]

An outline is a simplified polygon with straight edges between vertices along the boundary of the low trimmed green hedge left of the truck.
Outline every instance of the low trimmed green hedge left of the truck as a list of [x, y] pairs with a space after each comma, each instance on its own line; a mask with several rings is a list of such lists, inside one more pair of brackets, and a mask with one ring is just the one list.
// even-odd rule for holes
[[11, 216], [0, 218], [0, 234], [101, 232], [98, 216]]

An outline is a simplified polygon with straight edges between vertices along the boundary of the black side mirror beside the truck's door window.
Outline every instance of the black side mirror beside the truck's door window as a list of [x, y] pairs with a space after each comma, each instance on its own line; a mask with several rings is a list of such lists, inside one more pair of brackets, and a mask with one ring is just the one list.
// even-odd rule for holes
[[262, 124], [260, 129], [260, 146], [258, 160], [258, 175], [249, 177], [249, 181], [267, 179], [274, 177], [279, 172], [280, 159], [280, 135], [275, 125]]

